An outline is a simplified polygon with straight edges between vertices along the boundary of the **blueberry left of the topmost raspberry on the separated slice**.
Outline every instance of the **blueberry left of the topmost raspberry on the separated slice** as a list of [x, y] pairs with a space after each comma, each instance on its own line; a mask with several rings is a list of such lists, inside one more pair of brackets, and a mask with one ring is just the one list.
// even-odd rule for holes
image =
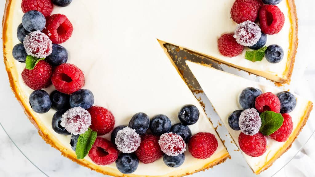
[[239, 104], [243, 109], [250, 109], [255, 107], [256, 97], [261, 95], [262, 92], [258, 88], [247, 87], [239, 95]]

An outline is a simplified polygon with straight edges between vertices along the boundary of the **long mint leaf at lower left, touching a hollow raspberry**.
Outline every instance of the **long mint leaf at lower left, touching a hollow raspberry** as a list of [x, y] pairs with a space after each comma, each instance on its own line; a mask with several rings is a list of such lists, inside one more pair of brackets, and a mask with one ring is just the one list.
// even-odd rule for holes
[[83, 159], [86, 155], [88, 155], [96, 137], [97, 133], [91, 128], [89, 128], [85, 133], [80, 134], [76, 147], [77, 159]]

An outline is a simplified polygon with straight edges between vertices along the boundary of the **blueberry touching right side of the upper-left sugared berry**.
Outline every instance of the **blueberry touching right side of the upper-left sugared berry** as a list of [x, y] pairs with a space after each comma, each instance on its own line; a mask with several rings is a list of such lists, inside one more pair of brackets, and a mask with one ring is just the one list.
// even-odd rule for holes
[[46, 57], [46, 61], [52, 66], [58, 66], [62, 63], [66, 63], [67, 60], [67, 50], [61, 45], [53, 44], [53, 51], [48, 57]]

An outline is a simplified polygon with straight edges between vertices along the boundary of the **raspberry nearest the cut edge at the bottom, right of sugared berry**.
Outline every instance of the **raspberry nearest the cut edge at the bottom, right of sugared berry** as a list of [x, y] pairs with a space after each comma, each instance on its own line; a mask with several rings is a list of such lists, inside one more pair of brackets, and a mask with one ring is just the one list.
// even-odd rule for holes
[[211, 133], [200, 132], [193, 135], [188, 143], [188, 150], [193, 157], [206, 159], [212, 156], [218, 148], [218, 141]]

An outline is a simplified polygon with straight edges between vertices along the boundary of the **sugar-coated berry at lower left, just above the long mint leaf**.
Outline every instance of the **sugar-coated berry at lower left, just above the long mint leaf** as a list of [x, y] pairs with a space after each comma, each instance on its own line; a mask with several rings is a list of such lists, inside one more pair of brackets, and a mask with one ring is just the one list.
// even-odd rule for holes
[[62, 115], [60, 125], [74, 135], [83, 134], [91, 125], [91, 115], [82, 107], [74, 107]]

